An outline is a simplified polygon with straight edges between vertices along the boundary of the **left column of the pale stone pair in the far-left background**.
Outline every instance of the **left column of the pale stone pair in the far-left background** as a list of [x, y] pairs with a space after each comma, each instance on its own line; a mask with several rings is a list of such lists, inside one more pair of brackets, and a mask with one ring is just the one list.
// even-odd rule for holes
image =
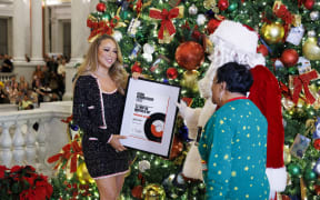
[[29, 13], [24, 13], [24, 8], [28, 7], [23, 0], [13, 1], [13, 20], [12, 20], [12, 33], [13, 33], [13, 59], [14, 64], [23, 63], [26, 54], [26, 26], [24, 18]]

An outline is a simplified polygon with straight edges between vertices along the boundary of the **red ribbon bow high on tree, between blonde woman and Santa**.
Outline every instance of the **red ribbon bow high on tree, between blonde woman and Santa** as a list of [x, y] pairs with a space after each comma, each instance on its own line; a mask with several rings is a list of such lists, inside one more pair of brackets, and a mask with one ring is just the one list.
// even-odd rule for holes
[[158, 38], [163, 39], [164, 28], [168, 30], [169, 34], [173, 34], [176, 32], [176, 28], [171, 21], [171, 19], [177, 18], [179, 16], [179, 8], [173, 8], [170, 11], [163, 9], [162, 12], [156, 9], [151, 9], [149, 12], [149, 17], [153, 19], [161, 20], [161, 27], [158, 32]]

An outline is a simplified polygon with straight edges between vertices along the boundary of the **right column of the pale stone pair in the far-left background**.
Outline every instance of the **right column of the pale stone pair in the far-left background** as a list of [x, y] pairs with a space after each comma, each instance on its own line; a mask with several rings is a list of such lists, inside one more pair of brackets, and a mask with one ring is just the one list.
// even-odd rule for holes
[[31, 61], [44, 64], [42, 56], [42, 1], [31, 0]]

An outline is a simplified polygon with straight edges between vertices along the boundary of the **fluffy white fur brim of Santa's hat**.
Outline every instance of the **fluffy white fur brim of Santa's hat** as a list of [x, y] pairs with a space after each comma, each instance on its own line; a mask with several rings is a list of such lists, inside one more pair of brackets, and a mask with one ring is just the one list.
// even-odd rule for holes
[[242, 23], [223, 20], [218, 29], [210, 36], [210, 39], [223, 40], [230, 48], [243, 53], [257, 53], [258, 47], [258, 33], [253, 29], [249, 30], [249, 27], [244, 27]]

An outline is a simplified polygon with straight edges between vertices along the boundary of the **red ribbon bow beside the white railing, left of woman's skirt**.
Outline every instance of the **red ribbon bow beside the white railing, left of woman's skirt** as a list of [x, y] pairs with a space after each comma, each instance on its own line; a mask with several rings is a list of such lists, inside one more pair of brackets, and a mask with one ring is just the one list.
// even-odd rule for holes
[[[64, 162], [62, 164], [62, 169], [66, 168], [68, 160], [71, 158], [71, 164], [70, 164], [70, 172], [73, 173], [77, 171], [77, 161], [78, 161], [78, 154], [82, 156], [82, 148], [79, 146], [78, 140], [77, 140], [78, 136], [76, 136], [74, 140], [71, 143], [67, 143], [63, 148], [62, 148], [62, 152], [61, 153], [57, 153], [53, 154], [52, 157], [48, 158], [48, 162], [56, 162], [58, 160], [67, 160], [67, 162]], [[58, 162], [54, 167], [54, 169], [58, 169], [59, 167]]]

